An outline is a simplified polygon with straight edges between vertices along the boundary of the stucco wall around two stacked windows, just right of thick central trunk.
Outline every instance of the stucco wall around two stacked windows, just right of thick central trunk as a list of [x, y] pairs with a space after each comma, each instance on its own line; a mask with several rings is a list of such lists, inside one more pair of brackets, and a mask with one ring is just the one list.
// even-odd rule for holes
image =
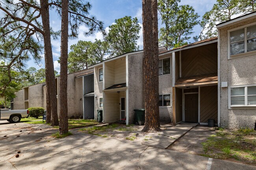
[[[171, 105], [172, 105], [172, 58], [171, 54], [163, 55], [159, 57], [159, 60], [163, 58], [170, 58], [170, 74], [160, 75], [159, 79], [159, 94], [170, 94]], [[173, 120], [173, 109], [172, 106], [160, 106], [159, 107], [160, 122], [171, 122]]]

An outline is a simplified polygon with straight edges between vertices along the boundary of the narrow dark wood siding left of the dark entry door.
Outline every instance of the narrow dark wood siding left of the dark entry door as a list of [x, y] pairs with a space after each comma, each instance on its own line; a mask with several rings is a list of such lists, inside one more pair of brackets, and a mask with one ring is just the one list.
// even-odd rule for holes
[[176, 88], [176, 123], [182, 121], [182, 89]]

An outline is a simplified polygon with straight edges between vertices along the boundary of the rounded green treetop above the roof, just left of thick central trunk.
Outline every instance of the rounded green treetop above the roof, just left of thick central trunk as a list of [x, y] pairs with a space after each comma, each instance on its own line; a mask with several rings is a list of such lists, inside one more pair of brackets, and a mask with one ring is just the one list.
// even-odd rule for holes
[[138, 50], [137, 40], [139, 39], [140, 29], [141, 26], [136, 17], [124, 16], [116, 19], [115, 24], [109, 26], [109, 33], [106, 36], [110, 47], [110, 56]]

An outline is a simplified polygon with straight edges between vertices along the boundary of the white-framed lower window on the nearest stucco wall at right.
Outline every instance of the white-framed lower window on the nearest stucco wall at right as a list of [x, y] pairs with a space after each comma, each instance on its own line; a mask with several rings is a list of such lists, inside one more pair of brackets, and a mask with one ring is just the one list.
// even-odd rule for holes
[[256, 86], [230, 88], [231, 106], [256, 106]]

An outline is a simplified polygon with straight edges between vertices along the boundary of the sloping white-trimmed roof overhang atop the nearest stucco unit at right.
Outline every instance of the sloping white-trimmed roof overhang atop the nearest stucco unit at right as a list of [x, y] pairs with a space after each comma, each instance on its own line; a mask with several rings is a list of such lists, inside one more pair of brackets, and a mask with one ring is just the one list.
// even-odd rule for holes
[[226, 22], [222, 22], [220, 24], [217, 24], [216, 28], [221, 29], [223, 27], [234, 25], [234, 24], [237, 24], [238, 22], [249, 20], [249, 19], [252, 19], [252, 18], [255, 18], [255, 17], [256, 17], [256, 12], [249, 13], [247, 15], [239, 16], [237, 18], [234, 18], [234, 19], [228, 20]]

